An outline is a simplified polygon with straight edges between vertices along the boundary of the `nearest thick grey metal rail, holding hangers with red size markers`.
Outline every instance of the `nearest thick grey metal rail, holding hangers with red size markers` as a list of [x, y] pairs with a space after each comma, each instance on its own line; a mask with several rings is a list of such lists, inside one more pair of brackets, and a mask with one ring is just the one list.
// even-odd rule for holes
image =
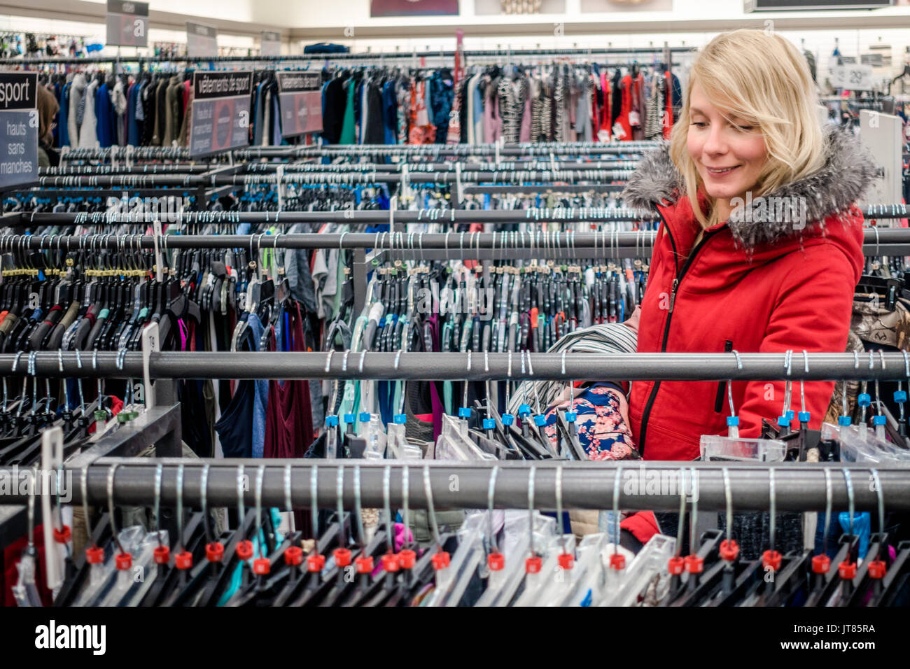
[[[728, 490], [733, 511], [765, 511], [771, 507], [769, 481], [773, 471], [773, 502], [778, 512], [824, 511], [829, 490], [831, 506], [837, 511], [851, 508], [854, 512], [875, 511], [879, 508], [879, 491], [886, 510], [910, 510], [910, 468], [905, 465], [870, 468], [839, 462], [786, 462], [768, 466], [738, 462], [722, 465], [653, 461], [494, 463], [146, 458], [139, 462], [102, 458], [87, 467], [67, 468], [66, 493], [72, 494], [72, 503], [81, 503], [85, 477], [87, 501], [106, 505], [108, 479], [112, 478], [115, 503], [151, 504], [156, 498], [158, 464], [162, 465], [159, 501], [173, 507], [179, 492], [180, 502], [195, 509], [201, 507], [203, 494], [209, 508], [233, 508], [238, 503], [238, 488], [248, 509], [257, 504], [257, 490], [261, 490], [258, 503], [262, 506], [309, 508], [315, 497], [317, 506], [335, 508], [340, 479], [341, 501], [347, 509], [352, 509], [355, 503], [383, 508], [387, 493], [393, 509], [403, 506], [405, 497], [410, 508], [425, 509], [432, 502], [436, 509], [486, 509], [490, 506], [490, 496], [492, 506], [497, 509], [527, 509], [529, 502], [542, 511], [612, 509], [613, 492], [618, 487], [616, 503], [626, 511], [678, 510], [681, 496], [687, 502], [697, 502], [701, 511], [723, 511], [727, 508]], [[496, 479], [490, 493], [494, 467]], [[112, 468], [115, 468], [113, 473]], [[355, 471], [359, 476], [358, 488], [355, 488]], [[407, 487], [403, 485], [405, 471]], [[205, 487], [203, 472], [207, 474]], [[183, 479], [179, 490], [178, 473]], [[16, 481], [25, 476], [25, 471], [0, 468], [0, 477], [5, 480]], [[724, 482], [725, 476], [729, 487]], [[315, 491], [311, 487], [314, 477]], [[531, 481], [533, 496], [529, 500]], [[26, 488], [13, 486], [12, 494], [0, 497], [0, 504], [25, 504], [27, 492]]]

